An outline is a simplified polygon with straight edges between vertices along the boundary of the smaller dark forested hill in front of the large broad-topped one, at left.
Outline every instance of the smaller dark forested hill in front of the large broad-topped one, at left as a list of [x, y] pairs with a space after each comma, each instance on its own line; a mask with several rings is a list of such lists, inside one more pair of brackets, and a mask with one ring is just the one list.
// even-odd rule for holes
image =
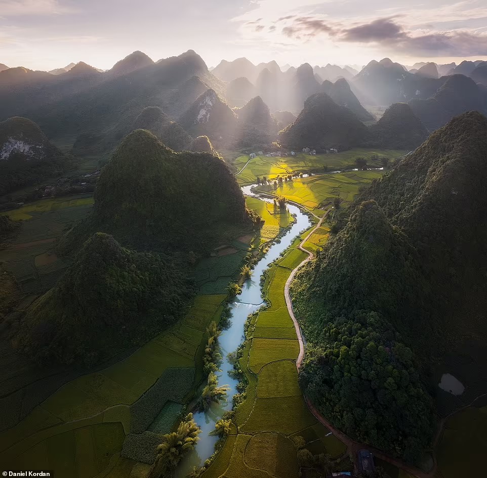
[[40, 363], [92, 366], [184, 315], [194, 293], [177, 256], [129, 251], [96, 233], [61, 280], [27, 309], [17, 346]]

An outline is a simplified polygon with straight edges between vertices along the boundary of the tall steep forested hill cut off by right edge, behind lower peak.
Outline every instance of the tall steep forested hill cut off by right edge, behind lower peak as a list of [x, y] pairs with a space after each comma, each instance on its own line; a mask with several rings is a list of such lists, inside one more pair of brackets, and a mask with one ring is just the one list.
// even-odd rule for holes
[[460, 337], [487, 338], [480, 318], [487, 306], [486, 174], [487, 118], [470, 111], [431, 134], [357, 201], [377, 201], [420, 254], [431, 284], [423, 293], [435, 337], [429, 345], [437, 353]]

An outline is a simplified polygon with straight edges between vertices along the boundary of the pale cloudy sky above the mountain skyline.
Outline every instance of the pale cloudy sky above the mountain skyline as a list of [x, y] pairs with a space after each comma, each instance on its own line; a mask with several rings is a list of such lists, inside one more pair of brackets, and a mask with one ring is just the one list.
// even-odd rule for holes
[[280, 65], [487, 60], [485, 0], [0, 0], [0, 63], [108, 69], [141, 50]]

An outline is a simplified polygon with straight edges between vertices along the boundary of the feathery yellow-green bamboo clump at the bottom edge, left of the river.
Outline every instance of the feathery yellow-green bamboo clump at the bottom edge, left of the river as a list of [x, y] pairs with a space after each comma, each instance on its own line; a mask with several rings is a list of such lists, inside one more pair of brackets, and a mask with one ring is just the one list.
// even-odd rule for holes
[[167, 478], [178, 466], [181, 459], [194, 448], [201, 430], [189, 413], [179, 424], [178, 431], [163, 436], [163, 442], [157, 447], [157, 455], [148, 478]]

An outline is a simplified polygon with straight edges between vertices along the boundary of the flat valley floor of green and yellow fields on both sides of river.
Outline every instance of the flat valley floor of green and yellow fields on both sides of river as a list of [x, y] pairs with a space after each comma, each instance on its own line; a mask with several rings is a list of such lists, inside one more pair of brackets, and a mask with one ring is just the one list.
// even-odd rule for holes
[[[253, 164], [250, 162], [237, 176], [241, 183], [252, 182], [256, 174], [276, 177], [289, 170], [289, 165], [273, 169], [277, 158], [257, 159], [256, 167], [248, 169]], [[271, 161], [265, 165], [267, 160]], [[302, 158], [298, 160], [301, 162]], [[239, 158], [235, 166], [238, 162]], [[302, 165], [303, 169], [306, 166]], [[336, 469], [352, 469], [347, 451], [356, 449], [350, 446], [347, 450], [350, 443], [343, 443], [338, 433], [331, 433], [323, 425], [326, 417], [316, 418], [298, 386], [297, 365], [299, 368], [304, 349], [296, 333], [299, 328], [293, 322], [287, 286], [293, 271], [328, 241], [330, 227], [324, 218], [332, 211], [333, 199], [341, 197], [346, 206], [361, 185], [382, 174], [321, 174], [283, 182], [277, 188], [272, 184], [259, 187], [262, 193], [284, 196], [300, 205], [314, 216], [314, 224], [265, 273], [263, 291], [270, 306], [252, 316], [239, 359], [248, 382], [245, 400], [236, 408], [235, 426], [202, 474], [204, 478], [296, 478], [296, 436], [304, 439], [305, 447], [312, 453], [329, 454]], [[78, 195], [43, 200], [8, 212], [12, 219], [24, 223], [19, 235], [0, 250], [0, 260], [26, 292], [22, 306], [54, 284], [69, 265], [69, 261], [55, 254], [54, 241], [72, 221], [84, 217], [92, 203], [91, 196]], [[235, 238], [232, 244], [216, 249], [212, 257], [202, 260], [195, 270], [199, 295], [184, 320], [124, 360], [78, 377], [62, 375], [64, 370], [58, 371], [57, 379], [42, 371], [36, 371], [34, 377], [23, 357], [19, 355], [12, 362], [8, 341], [2, 339], [2, 413], [9, 409], [15, 421], [16, 417], [25, 417], [15, 426], [8, 425], [11, 417], [4, 422], [5, 431], [0, 433], [0, 462], [4, 467], [55, 469], [62, 476], [77, 478], [145, 476], [148, 465], [143, 463], [147, 461], [144, 445], [135, 440], [135, 445], [128, 446], [127, 436], [137, 434], [134, 430], [167, 433], [174, 428], [202, 380], [206, 329], [212, 321], [219, 321], [227, 301], [227, 284], [239, 274], [248, 252], [265, 247], [290, 224], [289, 213], [278, 213], [272, 204], [248, 197], [247, 206], [265, 219], [260, 236]], [[7, 360], [11, 363], [5, 367]], [[28, 394], [29, 390], [36, 393], [36, 387], [39, 393], [54, 388], [39, 403]], [[22, 397], [17, 397], [17, 405], [12, 407], [6, 397], [17, 389]], [[156, 402], [158, 407], [137, 407], [135, 404], [141, 404], [144, 396], [144, 400]], [[29, 400], [39, 405], [32, 407]], [[27, 413], [24, 409], [32, 411]], [[472, 474], [481, 469], [482, 451], [487, 449], [483, 436], [485, 417], [487, 407], [478, 401], [445, 421], [435, 450], [437, 467], [433, 473], [413, 470], [408, 474], [393, 462], [381, 459], [376, 464], [390, 478], [455, 478], [464, 471]], [[131, 459], [121, 458], [124, 442], [125, 456]]]

